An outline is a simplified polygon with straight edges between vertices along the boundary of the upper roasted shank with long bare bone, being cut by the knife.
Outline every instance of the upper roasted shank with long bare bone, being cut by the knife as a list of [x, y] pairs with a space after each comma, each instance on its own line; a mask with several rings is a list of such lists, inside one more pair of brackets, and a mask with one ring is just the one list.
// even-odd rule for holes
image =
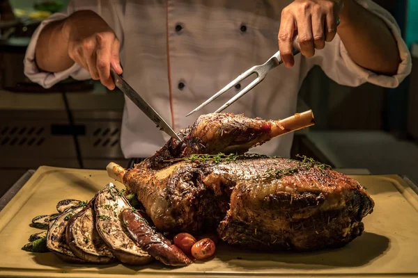
[[181, 142], [171, 138], [141, 167], [159, 170], [170, 165], [173, 158], [192, 154], [244, 154], [251, 147], [262, 145], [274, 137], [314, 124], [314, 114], [306, 111], [284, 120], [251, 119], [233, 113], [201, 115], [192, 126], [180, 131]]

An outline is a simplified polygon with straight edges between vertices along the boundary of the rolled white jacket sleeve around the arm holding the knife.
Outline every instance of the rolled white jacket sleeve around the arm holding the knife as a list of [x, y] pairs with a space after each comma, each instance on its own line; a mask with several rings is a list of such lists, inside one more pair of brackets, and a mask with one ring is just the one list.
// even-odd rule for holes
[[[72, 77], [76, 80], [86, 80], [90, 79], [91, 76], [87, 70], [79, 66], [77, 63], [74, 63], [67, 70], [62, 72], [42, 72], [36, 65], [35, 60], [35, 49], [38, 42], [39, 34], [42, 32], [43, 28], [51, 22], [57, 20], [65, 19], [71, 13], [74, 13], [76, 10], [93, 10], [95, 13], [98, 13], [103, 19], [114, 29], [116, 36], [121, 40], [123, 38], [122, 26], [119, 19], [119, 11], [121, 11], [121, 1], [112, 1], [112, 0], [71, 0], [68, 3], [68, 8], [62, 13], [54, 13], [40, 24], [36, 31], [33, 33], [31, 42], [29, 43], [28, 48], [26, 49], [26, 54], [24, 57], [24, 74], [32, 82], [42, 85], [43, 88], [51, 88], [56, 83]], [[123, 43], [121, 42], [121, 45]]]

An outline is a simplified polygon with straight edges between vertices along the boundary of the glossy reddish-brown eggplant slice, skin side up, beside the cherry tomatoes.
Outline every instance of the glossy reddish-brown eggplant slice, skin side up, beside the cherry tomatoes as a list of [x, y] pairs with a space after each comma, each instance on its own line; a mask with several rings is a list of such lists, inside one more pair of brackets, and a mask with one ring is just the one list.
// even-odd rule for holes
[[166, 265], [185, 266], [192, 263], [184, 253], [161, 233], [150, 227], [148, 222], [134, 208], [122, 212], [127, 231], [148, 254]]

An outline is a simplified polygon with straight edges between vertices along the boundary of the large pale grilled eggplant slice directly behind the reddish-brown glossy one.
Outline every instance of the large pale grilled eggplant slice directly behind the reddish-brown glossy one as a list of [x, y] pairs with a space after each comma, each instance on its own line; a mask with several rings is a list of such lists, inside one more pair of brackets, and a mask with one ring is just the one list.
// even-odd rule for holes
[[121, 212], [130, 207], [123, 193], [109, 183], [95, 199], [96, 228], [119, 261], [144, 265], [153, 261], [153, 257], [130, 238], [121, 216]]

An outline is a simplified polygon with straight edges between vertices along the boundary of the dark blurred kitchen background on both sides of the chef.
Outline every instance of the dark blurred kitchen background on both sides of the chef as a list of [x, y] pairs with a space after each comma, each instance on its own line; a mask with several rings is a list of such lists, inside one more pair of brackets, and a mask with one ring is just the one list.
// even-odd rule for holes
[[[316, 125], [295, 134], [292, 155], [346, 172], [401, 174], [418, 182], [418, 0], [376, 2], [401, 26], [415, 64], [411, 76], [394, 90], [348, 88], [314, 68], [298, 109], [313, 109]], [[127, 163], [119, 145], [120, 92], [74, 80], [45, 90], [23, 74], [31, 34], [67, 3], [0, 0], [0, 196], [40, 165], [104, 169], [109, 161]]]

